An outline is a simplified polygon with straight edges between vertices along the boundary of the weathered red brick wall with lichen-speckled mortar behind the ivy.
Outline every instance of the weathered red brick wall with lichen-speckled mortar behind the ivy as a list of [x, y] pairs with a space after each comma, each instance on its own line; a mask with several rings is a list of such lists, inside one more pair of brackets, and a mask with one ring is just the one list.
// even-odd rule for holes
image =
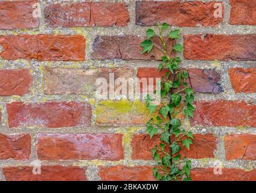
[[0, 180], [155, 180], [144, 102], [97, 100], [95, 81], [161, 77], [139, 46], [157, 21], [181, 28], [196, 91], [192, 179], [256, 180], [256, 1], [0, 1], [0, 16]]

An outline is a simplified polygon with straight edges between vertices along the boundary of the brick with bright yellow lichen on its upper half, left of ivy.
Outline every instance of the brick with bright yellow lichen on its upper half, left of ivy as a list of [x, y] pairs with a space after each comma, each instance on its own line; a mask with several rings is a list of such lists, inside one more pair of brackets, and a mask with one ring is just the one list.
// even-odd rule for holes
[[149, 110], [141, 101], [100, 101], [95, 114], [100, 125], [141, 125], [149, 121]]

